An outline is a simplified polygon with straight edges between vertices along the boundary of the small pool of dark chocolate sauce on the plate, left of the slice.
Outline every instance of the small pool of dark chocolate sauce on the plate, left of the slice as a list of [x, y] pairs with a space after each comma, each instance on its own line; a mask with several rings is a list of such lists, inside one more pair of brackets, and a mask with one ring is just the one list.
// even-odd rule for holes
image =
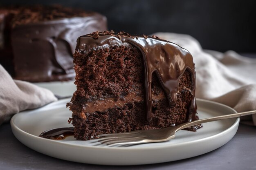
[[74, 128], [73, 127], [66, 127], [66, 128], [55, 128], [50, 129], [42, 132], [39, 137], [43, 137], [46, 139], [53, 139], [53, 140], [63, 140], [68, 136], [74, 135]]

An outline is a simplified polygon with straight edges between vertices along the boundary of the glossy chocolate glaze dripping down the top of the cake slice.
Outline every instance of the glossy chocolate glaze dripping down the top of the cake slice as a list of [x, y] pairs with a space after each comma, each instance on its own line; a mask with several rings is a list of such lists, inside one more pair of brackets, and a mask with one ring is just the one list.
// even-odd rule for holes
[[92, 48], [104, 48], [125, 43], [136, 46], [143, 55], [147, 120], [151, 121], [152, 119], [152, 74], [154, 72], [157, 73], [169, 105], [175, 106], [180, 77], [182, 77], [186, 69], [191, 73], [191, 94], [193, 95], [189, 107], [188, 121], [198, 119], [195, 115], [197, 109], [195, 103], [195, 64], [193, 63], [192, 55], [186, 49], [155, 36], [149, 37], [146, 35], [130, 35], [125, 32], [97, 31], [79, 37], [77, 39], [76, 51], [86, 53]]

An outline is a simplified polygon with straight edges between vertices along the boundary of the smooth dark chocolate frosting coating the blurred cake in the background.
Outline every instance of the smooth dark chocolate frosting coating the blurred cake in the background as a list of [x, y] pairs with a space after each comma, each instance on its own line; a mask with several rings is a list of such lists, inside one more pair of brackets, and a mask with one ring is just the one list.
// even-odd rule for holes
[[[10, 15], [15, 17], [14, 14]], [[10, 17], [10, 15], [7, 13], [2, 17]], [[9, 57], [0, 54], [0, 59], [2, 57], [4, 61], [13, 58], [14, 68], [7, 69], [11, 70], [9, 73], [14, 72], [12, 76], [15, 79], [29, 82], [74, 79], [73, 53], [77, 37], [96, 30], [106, 30], [106, 17], [94, 12], [84, 15], [71, 18], [65, 18], [63, 15], [62, 18], [55, 20], [26, 24], [18, 23], [15, 18], [13, 23], [2, 22], [4, 28], [0, 31], [10, 29], [10, 35], [6, 36], [11, 39], [11, 44], [8, 45], [0, 38], [2, 41], [0, 44], [4, 44], [1, 46], [9, 46], [9, 49], [2, 48], [2, 51], [11, 51], [11, 53]], [[0, 52], [2, 51], [0, 49]]]

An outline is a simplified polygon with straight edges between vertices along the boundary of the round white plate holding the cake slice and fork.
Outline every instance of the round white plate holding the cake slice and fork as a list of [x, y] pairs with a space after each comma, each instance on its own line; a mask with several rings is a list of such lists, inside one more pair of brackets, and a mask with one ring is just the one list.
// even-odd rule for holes
[[[239, 118], [203, 124], [197, 132], [181, 130], [167, 142], [129, 147], [109, 147], [96, 140], [76, 141], [67, 137], [55, 141], [38, 137], [51, 128], [71, 126], [67, 119], [71, 112], [65, 107], [70, 99], [63, 99], [45, 107], [18, 113], [11, 119], [16, 138], [38, 152], [69, 161], [101, 165], [139, 165], [175, 161], [195, 157], [226, 144], [236, 134]], [[223, 104], [197, 99], [200, 119], [236, 111]]]

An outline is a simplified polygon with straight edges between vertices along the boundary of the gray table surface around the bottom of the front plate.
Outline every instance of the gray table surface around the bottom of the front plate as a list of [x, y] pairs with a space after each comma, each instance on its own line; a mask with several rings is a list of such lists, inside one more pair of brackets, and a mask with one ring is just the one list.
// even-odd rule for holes
[[[256, 54], [243, 53], [256, 58]], [[88, 153], [90, 154], [90, 153]], [[234, 138], [204, 155], [141, 166], [99, 166], [43, 155], [16, 139], [9, 123], [0, 126], [0, 170], [256, 170], [256, 127], [240, 124]]]

